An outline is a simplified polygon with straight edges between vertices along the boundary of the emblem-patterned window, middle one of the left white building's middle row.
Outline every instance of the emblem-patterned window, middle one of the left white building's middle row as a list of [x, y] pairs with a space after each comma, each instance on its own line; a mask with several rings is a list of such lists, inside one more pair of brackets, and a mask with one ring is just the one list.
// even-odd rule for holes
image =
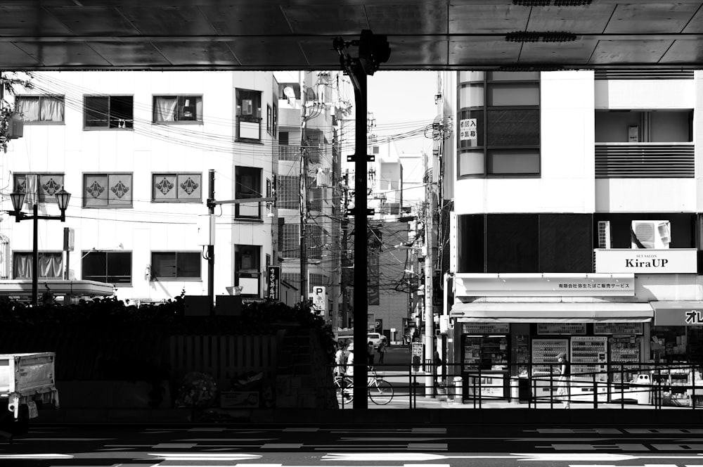
[[83, 207], [131, 207], [132, 174], [83, 174]]

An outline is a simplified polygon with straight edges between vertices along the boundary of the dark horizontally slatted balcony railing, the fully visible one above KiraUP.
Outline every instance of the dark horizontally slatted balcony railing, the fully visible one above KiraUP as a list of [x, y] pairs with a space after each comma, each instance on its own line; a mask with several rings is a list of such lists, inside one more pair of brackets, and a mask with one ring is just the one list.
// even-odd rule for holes
[[603, 143], [595, 145], [595, 178], [685, 178], [695, 176], [693, 143]]

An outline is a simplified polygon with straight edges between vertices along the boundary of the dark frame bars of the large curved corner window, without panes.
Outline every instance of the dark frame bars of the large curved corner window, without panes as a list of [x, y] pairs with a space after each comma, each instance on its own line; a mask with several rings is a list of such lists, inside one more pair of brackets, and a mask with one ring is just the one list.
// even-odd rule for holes
[[[463, 88], [465, 87], [479, 87], [482, 89], [482, 102], [480, 105], [476, 106], [465, 106], [460, 107], [457, 110], [457, 121], [462, 120], [462, 117], [466, 115], [467, 118], [477, 118], [477, 124], [479, 127], [479, 135], [477, 137], [477, 143], [475, 146], [469, 146], [466, 144], [463, 146], [462, 141], [457, 140], [456, 142], [456, 173], [457, 179], [475, 179], [475, 178], [540, 178], [542, 167], [541, 167], [541, 74], [536, 72], [536, 75], [529, 76], [525, 75], [517, 79], [496, 79], [494, 78], [493, 72], [483, 72], [475, 75], [476, 79], [469, 79], [467, 81], [462, 81], [457, 84], [457, 100], [459, 96], [462, 96]], [[537, 87], [537, 104], [536, 105], [489, 105], [489, 96], [491, 90], [494, 87], [506, 86], [509, 84], [536, 84]], [[461, 105], [460, 102], [458, 104]], [[526, 110], [535, 111], [538, 115], [538, 121], [536, 122], [537, 131], [537, 143], [536, 144], [489, 144], [489, 113], [494, 110]], [[479, 141], [481, 142], [479, 144]], [[470, 143], [469, 143], [470, 144]], [[502, 154], [501, 154], [502, 151]], [[489, 167], [492, 167], [493, 160], [496, 155], [508, 155], [510, 152], [524, 151], [530, 153], [529, 155], [537, 156], [537, 171], [536, 172], [491, 172]], [[482, 154], [482, 172], [480, 173], [470, 173], [462, 174], [461, 172], [461, 162], [466, 155], [470, 157], [470, 154], [474, 154], [474, 157], [481, 158], [479, 154]], [[477, 160], [477, 162], [479, 162]]]

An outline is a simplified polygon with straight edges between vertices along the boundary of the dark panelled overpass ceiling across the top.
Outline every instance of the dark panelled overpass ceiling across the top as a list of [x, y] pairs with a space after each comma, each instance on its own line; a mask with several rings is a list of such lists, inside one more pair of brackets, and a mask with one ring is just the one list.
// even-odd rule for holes
[[703, 1], [3, 0], [2, 70], [325, 70], [386, 34], [384, 70], [701, 68]]

